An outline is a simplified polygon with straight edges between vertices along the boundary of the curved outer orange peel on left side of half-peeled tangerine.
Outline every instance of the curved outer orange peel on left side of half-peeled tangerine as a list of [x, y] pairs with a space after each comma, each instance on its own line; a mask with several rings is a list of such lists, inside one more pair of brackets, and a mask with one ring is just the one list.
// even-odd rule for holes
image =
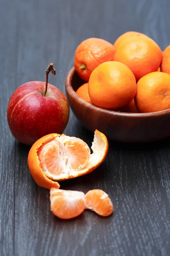
[[[40, 167], [40, 162], [37, 157], [37, 148], [40, 148], [43, 143], [50, 141], [55, 137], [61, 136], [60, 134], [48, 134], [37, 140], [31, 147], [28, 154], [28, 167], [31, 172], [32, 177], [38, 186], [44, 187], [45, 189], [51, 189], [51, 187], [59, 189], [59, 183], [49, 179], [45, 176], [45, 173]], [[62, 134], [62, 136], [65, 136]]]

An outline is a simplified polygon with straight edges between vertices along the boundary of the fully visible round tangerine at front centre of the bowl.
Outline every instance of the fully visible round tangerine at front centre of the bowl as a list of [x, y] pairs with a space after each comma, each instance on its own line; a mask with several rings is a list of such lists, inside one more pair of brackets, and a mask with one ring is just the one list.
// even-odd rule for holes
[[121, 108], [134, 98], [136, 79], [125, 64], [108, 61], [91, 73], [88, 93], [93, 104], [100, 108]]

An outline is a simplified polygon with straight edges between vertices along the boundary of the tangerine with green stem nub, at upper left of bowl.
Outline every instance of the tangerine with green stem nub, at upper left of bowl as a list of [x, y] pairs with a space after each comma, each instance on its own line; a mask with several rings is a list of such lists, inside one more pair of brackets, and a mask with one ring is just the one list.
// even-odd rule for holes
[[91, 72], [105, 61], [113, 61], [114, 46], [101, 38], [88, 38], [76, 49], [74, 67], [78, 75], [88, 81]]

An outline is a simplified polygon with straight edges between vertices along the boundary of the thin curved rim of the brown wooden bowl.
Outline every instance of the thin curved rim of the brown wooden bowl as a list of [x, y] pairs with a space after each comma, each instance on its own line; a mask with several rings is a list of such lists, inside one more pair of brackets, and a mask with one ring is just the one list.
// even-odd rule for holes
[[[99, 108], [95, 105], [92, 105], [91, 103], [86, 102], [84, 99], [80, 98], [77, 93], [75, 92], [75, 90], [72, 87], [71, 84], [71, 79], [74, 75], [74, 73], [76, 73], [76, 70], [74, 67], [72, 67], [68, 73], [67, 76], [65, 78], [65, 89], [67, 91], [67, 87], [69, 88], [70, 92], [72, 93], [72, 96], [74, 97], [74, 99], [76, 99], [80, 104], [86, 105], [87, 107], [94, 109], [95, 111], [100, 111], [102, 113], [108, 113], [108, 114], [113, 114], [114, 116], [121, 116], [121, 117], [140, 117], [140, 118], [146, 118], [146, 117], [150, 117], [150, 116], [166, 116], [167, 114], [170, 114], [170, 108], [165, 109], [165, 110], [161, 110], [161, 111], [155, 111], [155, 112], [148, 112], [148, 113], [126, 113], [126, 112], [119, 112], [119, 111], [114, 111], [114, 110], [108, 110], [105, 108]], [[77, 74], [78, 75], [78, 74]], [[87, 83], [86, 81], [84, 81], [85, 83]]]

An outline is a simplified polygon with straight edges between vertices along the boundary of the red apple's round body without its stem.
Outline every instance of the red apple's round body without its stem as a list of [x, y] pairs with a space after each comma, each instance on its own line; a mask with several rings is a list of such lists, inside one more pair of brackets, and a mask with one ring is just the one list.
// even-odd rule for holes
[[44, 135], [62, 134], [69, 119], [66, 96], [54, 85], [30, 81], [20, 85], [12, 94], [7, 109], [8, 125], [21, 143], [33, 145]]

